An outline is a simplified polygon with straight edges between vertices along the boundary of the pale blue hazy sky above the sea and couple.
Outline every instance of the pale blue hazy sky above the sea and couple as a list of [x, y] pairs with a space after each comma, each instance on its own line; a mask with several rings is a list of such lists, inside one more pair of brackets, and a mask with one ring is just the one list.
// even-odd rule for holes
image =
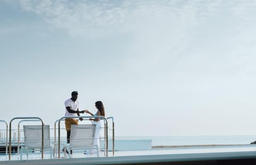
[[116, 136], [256, 135], [255, 7], [0, 0], [0, 119], [53, 127], [77, 90]]

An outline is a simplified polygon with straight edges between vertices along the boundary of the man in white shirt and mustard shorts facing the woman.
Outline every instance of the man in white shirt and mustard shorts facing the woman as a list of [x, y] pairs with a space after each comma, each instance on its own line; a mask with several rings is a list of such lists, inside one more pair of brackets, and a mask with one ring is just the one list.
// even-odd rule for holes
[[[66, 113], [65, 117], [75, 117], [75, 116], [80, 116], [80, 113], [84, 113], [83, 111], [78, 110], [78, 101], [77, 101], [77, 91], [73, 91], [71, 93], [71, 98], [65, 101], [65, 107], [66, 107]], [[80, 120], [83, 120], [83, 118], [80, 118]], [[77, 118], [66, 118], [65, 119], [65, 127], [67, 131], [67, 143], [70, 141], [70, 128], [71, 124], [78, 124], [78, 119]], [[62, 150], [64, 151], [64, 150]]]

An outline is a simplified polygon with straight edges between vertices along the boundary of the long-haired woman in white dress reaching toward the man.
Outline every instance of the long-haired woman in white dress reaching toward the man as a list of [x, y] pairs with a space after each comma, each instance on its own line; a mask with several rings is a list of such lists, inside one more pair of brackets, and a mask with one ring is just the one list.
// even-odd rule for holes
[[[96, 101], [95, 107], [98, 109], [96, 114], [93, 115], [89, 110], [85, 110], [85, 112], [92, 116], [104, 116], [105, 117], [105, 109], [104, 109], [103, 103], [101, 101]], [[98, 149], [100, 149], [100, 131], [101, 131], [100, 117], [90, 118], [89, 120], [93, 121], [92, 124], [96, 125], [96, 129], [95, 129], [95, 133], [94, 133], [94, 145], [98, 145]]]

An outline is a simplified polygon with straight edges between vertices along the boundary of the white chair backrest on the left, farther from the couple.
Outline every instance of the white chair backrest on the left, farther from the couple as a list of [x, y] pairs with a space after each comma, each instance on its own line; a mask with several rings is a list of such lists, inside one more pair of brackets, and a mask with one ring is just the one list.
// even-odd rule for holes
[[[42, 148], [42, 125], [23, 125], [25, 147]], [[44, 125], [44, 147], [50, 147], [50, 126]]]

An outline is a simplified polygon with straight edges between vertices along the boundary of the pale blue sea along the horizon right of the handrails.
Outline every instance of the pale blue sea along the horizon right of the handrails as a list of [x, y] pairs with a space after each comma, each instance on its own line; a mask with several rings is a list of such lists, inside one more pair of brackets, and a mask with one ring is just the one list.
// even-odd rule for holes
[[151, 140], [151, 145], [207, 145], [207, 144], [250, 144], [256, 135], [223, 136], [125, 136], [116, 140]]

